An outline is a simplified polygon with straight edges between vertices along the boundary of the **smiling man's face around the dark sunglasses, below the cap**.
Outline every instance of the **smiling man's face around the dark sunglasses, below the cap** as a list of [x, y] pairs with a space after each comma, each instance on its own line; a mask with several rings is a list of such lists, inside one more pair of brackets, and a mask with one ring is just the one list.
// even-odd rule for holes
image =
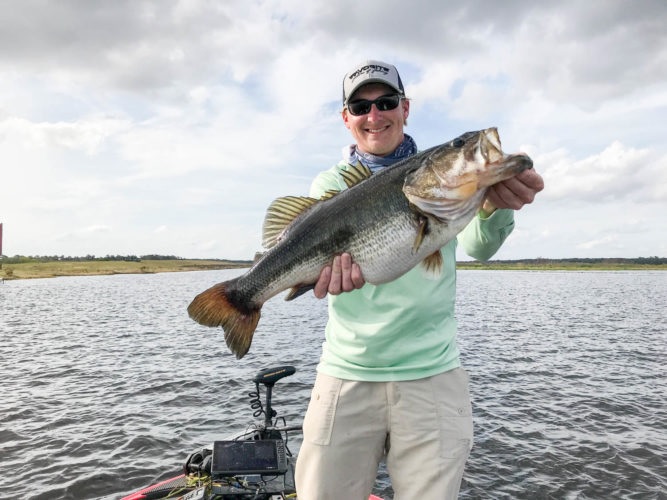
[[[351, 101], [357, 99], [373, 100], [383, 95], [396, 94], [396, 91], [381, 83], [370, 83], [357, 90]], [[392, 153], [403, 141], [403, 124], [408, 118], [410, 101], [402, 99], [396, 109], [378, 111], [375, 104], [369, 113], [354, 116], [343, 109], [343, 122], [357, 143], [357, 147], [376, 156]]]

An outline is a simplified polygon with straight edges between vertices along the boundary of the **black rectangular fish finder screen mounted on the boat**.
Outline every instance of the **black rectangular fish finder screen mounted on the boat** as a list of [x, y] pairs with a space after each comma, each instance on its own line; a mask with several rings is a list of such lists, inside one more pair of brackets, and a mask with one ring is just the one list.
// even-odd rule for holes
[[211, 478], [250, 474], [278, 476], [287, 472], [282, 439], [214, 441]]

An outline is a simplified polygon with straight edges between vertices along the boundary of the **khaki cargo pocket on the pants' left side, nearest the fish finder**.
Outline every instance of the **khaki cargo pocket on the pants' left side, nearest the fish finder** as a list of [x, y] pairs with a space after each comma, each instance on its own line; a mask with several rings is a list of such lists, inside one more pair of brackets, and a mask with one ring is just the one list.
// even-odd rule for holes
[[320, 446], [328, 446], [331, 443], [333, 422], [342, 383], [340, 379], [317, 374], [303, 421], [304, 440]]

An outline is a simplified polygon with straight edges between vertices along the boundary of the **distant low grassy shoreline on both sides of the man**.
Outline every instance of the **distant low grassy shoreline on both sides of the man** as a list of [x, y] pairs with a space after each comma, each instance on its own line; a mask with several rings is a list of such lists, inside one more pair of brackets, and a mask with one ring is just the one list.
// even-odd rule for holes
[[[17, 279], [56, 278], [61, 276], [105, 276], [113, 274], [155, 274], [166, 272], [213, 271], [241, 269], [252, 261], [229, 260], [141, 260], [141, 261], [50, 261], [3, 264], [0, 282]], [[535, 261], [460, 261], [458, 270], [488, 271], [667, 271], [667, 264], [639, 264], [617, 262], [613, 259], [601, 262], [569, 262], [558, 260]]]

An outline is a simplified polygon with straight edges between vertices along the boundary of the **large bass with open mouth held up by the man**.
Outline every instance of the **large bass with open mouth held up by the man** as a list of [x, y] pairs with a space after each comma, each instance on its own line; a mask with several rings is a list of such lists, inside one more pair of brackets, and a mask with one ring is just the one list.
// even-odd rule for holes
[[264, 302], [287, 289], [286, 300], [312, 289], [335, 255], [350, 253], [366, 282], [376, 285], [420, 262], [440, 272], [440, 249], [472, 220], [486, 189], [532, 164], [525, 154], [504, 154], [497, 129], [489, 128], [372, 176], [353, 167], [343, 173], [348, 189], [320, 200], [279, 198], [264, 221], [269, 250], [242, 276], [197, 295], [188, 313], [202, 325], [222, 326], [227, 346], [241, 358]]

